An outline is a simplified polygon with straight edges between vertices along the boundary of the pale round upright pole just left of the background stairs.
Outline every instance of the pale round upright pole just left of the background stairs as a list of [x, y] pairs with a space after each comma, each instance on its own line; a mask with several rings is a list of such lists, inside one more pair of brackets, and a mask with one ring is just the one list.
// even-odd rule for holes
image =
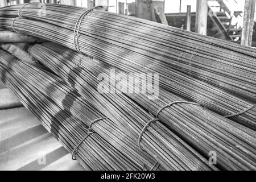
[[207, 16], [208, 3], [207, 0], [196, 1], [196, 32], [207, 35]]

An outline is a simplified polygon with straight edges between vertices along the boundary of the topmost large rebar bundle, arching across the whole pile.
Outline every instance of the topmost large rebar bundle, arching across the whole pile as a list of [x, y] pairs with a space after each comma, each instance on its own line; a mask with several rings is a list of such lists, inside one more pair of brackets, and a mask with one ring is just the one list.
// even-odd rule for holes
[[130, 72], [159, 72], [163, 88], [256, 129], [255, 49], [100, 10], [48, 4], [43, 16], [39, 10], [36, 3], [1, 9], [1, 28]]

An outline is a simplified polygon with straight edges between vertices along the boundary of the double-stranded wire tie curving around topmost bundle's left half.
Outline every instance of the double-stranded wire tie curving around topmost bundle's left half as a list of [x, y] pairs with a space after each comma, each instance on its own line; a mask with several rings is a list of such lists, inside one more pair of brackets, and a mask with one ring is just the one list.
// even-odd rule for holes
[[76, 26], [75, 26], [75, 30], [74, 30], [74, 46], [76, 48], [76, 51], [79, 53], [81, 53], [81, 51], [79, 48], [79, 40], [78, 39], [79, 39], [79, 31], [80, 31], [82, 20], [84, 19], [84, 16], [86, 16], [88, 13], [90, 13], [90, 11], [96, 9], [97, 7], [101, 7], [102, 9], [104, 9], [104, 6], [91, 7], [90, 9], [88, 9], [84, 13], [82, 13], [76, 21]]

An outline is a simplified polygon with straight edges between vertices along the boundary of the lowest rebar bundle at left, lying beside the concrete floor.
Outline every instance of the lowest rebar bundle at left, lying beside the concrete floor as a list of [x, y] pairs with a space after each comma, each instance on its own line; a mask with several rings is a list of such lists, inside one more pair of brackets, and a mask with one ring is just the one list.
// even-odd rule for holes
[[[63, 80], [19, 61], [5, 51], [0, 50], [0, 53], [1, 80], [69, 152], [75, 151], [76, 159], [85, 169], [156, 167], [155, 160], [140, 151], [129, 135]], [[100, 120], [92, 125], [95, 119]], [[94, 132], [88, 130], [89, 126]], [[155, 169], [163, 170], [162, 166]]]

